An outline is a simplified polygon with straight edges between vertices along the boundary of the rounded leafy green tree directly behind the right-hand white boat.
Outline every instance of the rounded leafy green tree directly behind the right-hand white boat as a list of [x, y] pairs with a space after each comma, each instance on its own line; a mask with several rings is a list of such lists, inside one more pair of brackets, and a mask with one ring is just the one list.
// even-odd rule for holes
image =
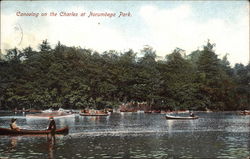
[[[182, 55], [183, 54], [183, 55]], [[197, 102], [197, 84], [194, 83], [193, 65], [184, 59], [184, 50], [176, 48], [166, 56], [163, 68], [163, 88], [168, 109], [194, 109]]]

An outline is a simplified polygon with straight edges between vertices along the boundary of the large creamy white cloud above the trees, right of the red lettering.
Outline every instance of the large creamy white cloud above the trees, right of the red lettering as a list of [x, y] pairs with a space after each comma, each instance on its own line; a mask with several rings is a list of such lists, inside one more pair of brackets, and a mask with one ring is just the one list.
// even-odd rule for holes
[[193, 18], [191, 6], [179, 6], [165, 10], [144, 6], [140, 14], [149, 26], [153, 47], [160, 56], [180, 47], [187, 53], [201, 47], [210, 39], [216, 43], [216, 53], [224, 56], [229, 53], [229, 61], [248, 62], [249, 55], [249, 16], [236, 22], [211, 18], [200, 23]]

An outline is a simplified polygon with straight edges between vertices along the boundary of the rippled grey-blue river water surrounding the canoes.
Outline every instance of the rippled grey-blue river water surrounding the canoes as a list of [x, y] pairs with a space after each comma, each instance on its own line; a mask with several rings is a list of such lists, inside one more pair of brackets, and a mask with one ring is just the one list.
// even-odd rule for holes
[[[196, 112], [197, 120], [163, 114], [113, 113], [108, 117], [56, 119], [65, 136], [0, 136], [0, 158], [243, 158], [250, 157], [250, 116]], [[0, 114], [26, 129], [45, 129], [46, 119]]]

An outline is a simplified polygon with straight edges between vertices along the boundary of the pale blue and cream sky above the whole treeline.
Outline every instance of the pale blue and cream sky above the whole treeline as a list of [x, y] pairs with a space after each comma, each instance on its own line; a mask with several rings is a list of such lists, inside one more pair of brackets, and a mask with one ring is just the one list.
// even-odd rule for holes
[[[57, 16], [50, 16], [50, 13]], [[60, 16], [61, 12], [78, 16]], [[88, 17], [115, 13], [114, 17]], [[119, 17], [120, 12], [129, 13]], [[34, 13], [36, 16], [20, 16]], [[41, 16], [47, 13], [47, 16]], [[80, 16], [85, 13], [85, 16]], [[1, 1], [1, 52], [27, 46], [53, 46], [140, 52], [145, 45], [164, 58], [175, 48], [190, 54], [208, 39], [231, 65], [249, 62], [248, 1]]]

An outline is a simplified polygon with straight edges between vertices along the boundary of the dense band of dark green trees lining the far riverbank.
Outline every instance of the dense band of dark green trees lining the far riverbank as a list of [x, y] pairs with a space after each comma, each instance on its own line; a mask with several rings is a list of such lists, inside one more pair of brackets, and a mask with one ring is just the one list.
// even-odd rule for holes
[[10, 49], [0, 56], [0, 109], [102, 109], [142, 102], [155, 110], [248, 109], [250, 64], [232, 68], [213, 47], [208, 41], [189, 55], [176, 48], [162, 60], [150, 46], [139, 53], [98, 53], [60, 42], [53, 49], [44, 40], [39, 51]]

